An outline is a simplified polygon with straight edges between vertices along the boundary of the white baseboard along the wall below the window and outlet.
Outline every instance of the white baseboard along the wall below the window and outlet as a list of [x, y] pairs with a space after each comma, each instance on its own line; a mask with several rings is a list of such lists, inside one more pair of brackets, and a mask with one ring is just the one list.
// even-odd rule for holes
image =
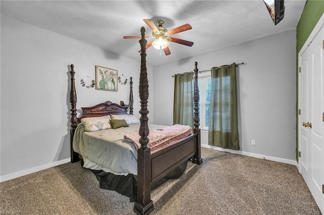
[[246, 155], [246, 156], [250, 156], [250, 157], [266, 159], [266, 160], [272, 160], [274, 162], [291, 164], [291, 165], [295, 165], [298, 168], [298, 163], [296, 160], [290, 160], [290, 159], [285, 159], [285, 158], [280, 158], [280, 157], [272, 157], [272, 156], [268, 156], [268, 155], [256, 154], [256, 153], [251, 153], [251, 152], [246, 152], [246, 151], [237, 151], [237, 150], [233, 150], [233, 149], [221, 148], [221, 147], [206, 145], [206, 144], [201, 144], [201, 147], [211, 148], [211, 149], [215, 149], [215, 150], [219, 150], [219, 151], [226, 151], [226, 152], [230, 152], [230, 153], [234, 153], [234, 154], [241, 154], [241, 155]]

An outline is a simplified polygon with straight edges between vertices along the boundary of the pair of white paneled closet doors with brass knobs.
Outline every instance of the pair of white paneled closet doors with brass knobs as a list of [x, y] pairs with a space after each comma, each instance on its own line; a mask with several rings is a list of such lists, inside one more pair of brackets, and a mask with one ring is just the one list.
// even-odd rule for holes
[[301, 56], [301, 174], [324, 210], [324, 28]]

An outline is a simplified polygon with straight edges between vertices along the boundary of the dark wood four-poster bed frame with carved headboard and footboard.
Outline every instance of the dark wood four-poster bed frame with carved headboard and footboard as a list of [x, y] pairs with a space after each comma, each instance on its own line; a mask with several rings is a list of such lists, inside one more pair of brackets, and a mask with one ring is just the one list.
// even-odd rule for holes
[[[192, 163], [200, 165], [203, 163], [203, 159], [200, 155], [200, 129], [199, 129], [199, 94], [198, 94], [198, 69], [197, 62], [195, 62], [194, 68], [194, 128], [193, 134], [177, 141], [171, 146], [164, 147], [156, 152], [151, 153], [148, 147], [148, 117], [147, 110], [148, 100], [148, 79], [146, 70], [146, 44], [145, 28], [141, 28], [142, 38], [141, 44], [141, 69], [139, 80], [139, 97], [141, 102], [140, 117], [140, 129], [139, 135], [141, 136], [139, 142], [141, 147], [138, 148], [138, 175], [137, 179], [137, 200], [134, 203], [134, 211], [138, 214], [148, 214], [154, 209], [153, 201], [151, 200], [151, 184], [157, 182], [169, 172], [191, 159]], [[70, 89], [70, 102], [71, 102], [71, 162], [77, 162], [79, 160], [79, 154], [73, 151], [72, 141], [74, 131], [80, 119], [85, 117], [98, 117], [106, 116], [109, 114], [126, 114], [130, 109], [130, 114], [133, 114], [133, 82], [130, 81], [131, 93], [129, 105], [112, 103], [106, 101], [104, 103], [97, 104], [89, 108], [82, 108], [83, 113], [80, 118], [76, 117], [76, 91], [74, 82], [74, 66], [71, 65], [71, 89]]]

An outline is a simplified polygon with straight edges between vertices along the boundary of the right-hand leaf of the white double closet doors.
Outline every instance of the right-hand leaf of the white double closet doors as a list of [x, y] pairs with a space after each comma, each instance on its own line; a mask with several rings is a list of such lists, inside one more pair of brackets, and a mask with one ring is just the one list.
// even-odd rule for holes
[[312, 167], [311, 172], [311, 186], [313, 196], [318, 204], [321, 205], [323, 211], [324, 194], [323, 190], [323, 50], [324, 28], [320, 30], [315, 39], [309, 46], [311, 58], [310, 71], [310, 107], [309, 107], [309, 137], [310, 137], [310, 163]]

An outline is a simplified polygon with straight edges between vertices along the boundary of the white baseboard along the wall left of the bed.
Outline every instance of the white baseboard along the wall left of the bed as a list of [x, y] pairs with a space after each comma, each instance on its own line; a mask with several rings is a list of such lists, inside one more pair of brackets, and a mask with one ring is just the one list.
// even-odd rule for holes
[[21, 176], [25, 176], [25, 175], [28, 175], [28, 174], [31, 174], [31, 173], [35, 173], [35, 172], [38, 172], [38, 171], [41, 171], [41, 170], [46, 170], [46, 169], [49, 169], [51, 167], [56, 167], [56, 166], [59, 166], [59, 165], [62, 165], [62, 164], [69, 163], [70, 161], [71, 161], [71, 158], [66, 158], [66, 159], [58, 160], [57, 162], [52, 162], [50, 164], [45, 164], [45, 165], [41, 165], [41, 166], [38, 166], [38, 167], [33, 167], [33, 168], [26, 169], [26, 170], [21, 170], [21, 171], [15, 172], [15, 173], [10, 173], [10, 174], [4, 175], [4, 176], [0, 176], [0, 182], [8, 181], [8, 180], [18, 178], [18, 177], [21, 177]]

